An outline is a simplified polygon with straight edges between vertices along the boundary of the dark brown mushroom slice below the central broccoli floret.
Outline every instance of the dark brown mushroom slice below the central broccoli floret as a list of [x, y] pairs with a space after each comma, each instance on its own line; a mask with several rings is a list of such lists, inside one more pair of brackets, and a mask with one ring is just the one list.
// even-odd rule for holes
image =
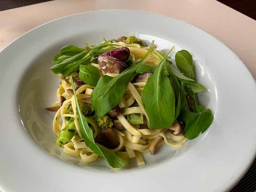
[[101, 130], [100, 133], [96, 136], [95, 141], [109, 149], [114, 149], [119, 146], [117, 136], [115, 132], [110, 128]]

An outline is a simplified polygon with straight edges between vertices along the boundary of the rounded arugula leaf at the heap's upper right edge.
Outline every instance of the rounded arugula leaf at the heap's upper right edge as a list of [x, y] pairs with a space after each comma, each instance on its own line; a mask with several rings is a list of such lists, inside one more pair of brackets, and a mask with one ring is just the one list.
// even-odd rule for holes
[[175, 62], [181, 73], [190, 79], [196, 80], [192, 55], [187, 50], [178, 51], [175, 54]]

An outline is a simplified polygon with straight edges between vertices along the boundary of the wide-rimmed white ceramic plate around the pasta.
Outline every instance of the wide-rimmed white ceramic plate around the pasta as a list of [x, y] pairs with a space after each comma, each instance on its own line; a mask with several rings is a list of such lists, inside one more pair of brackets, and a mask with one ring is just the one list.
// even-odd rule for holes
[[[182, 148], [164, 146], [144, 156], [144, 167], [112, 171], [104, 160], [83, 164], [63, 154], [52, 132], [54, 114], [43, 107], [56, 100], [59, 79], [49, 67], [60, 47], [123, 35], [154, 39], [159, 50], [175, 45], [173, 55], [180, 49], [191, 52], [198, 81], [206, 87], [200, 102], [214, 120]], [[252, 75], [227, 46], [183, 21], [141, 11], [80, 13], [20, 36], [0, 52], [0, 61], [2, 191], [224, 191], [255, 157]]]

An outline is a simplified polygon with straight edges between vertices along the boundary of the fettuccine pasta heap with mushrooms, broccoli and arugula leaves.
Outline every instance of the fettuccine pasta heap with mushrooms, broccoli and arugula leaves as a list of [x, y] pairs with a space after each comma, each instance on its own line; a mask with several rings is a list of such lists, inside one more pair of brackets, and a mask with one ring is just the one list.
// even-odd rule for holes
[[[205, 90], [196, 82], [191, 54], [169, 53], [135, 36], [84, 48], [68, 45], [54, 56], [59, 76], [53, 132], [69, 156], [84, 162], [105, 158], [113, 168], [142, 153], [157, 155], [166, 144], [181, 147], [212, 123], [212, 112], [197, 101]], [[173, 60], [174, 62], [174, 60]]]

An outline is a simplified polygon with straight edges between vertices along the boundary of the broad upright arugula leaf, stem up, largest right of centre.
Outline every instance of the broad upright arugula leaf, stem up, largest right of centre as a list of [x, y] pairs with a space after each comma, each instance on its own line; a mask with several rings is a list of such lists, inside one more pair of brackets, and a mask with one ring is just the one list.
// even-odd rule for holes
[[168, 128], [174, 121], [175, 96], [165, 73], [166, 60], [165, 57], [160, 61], [141, 94], [152, 129]]

